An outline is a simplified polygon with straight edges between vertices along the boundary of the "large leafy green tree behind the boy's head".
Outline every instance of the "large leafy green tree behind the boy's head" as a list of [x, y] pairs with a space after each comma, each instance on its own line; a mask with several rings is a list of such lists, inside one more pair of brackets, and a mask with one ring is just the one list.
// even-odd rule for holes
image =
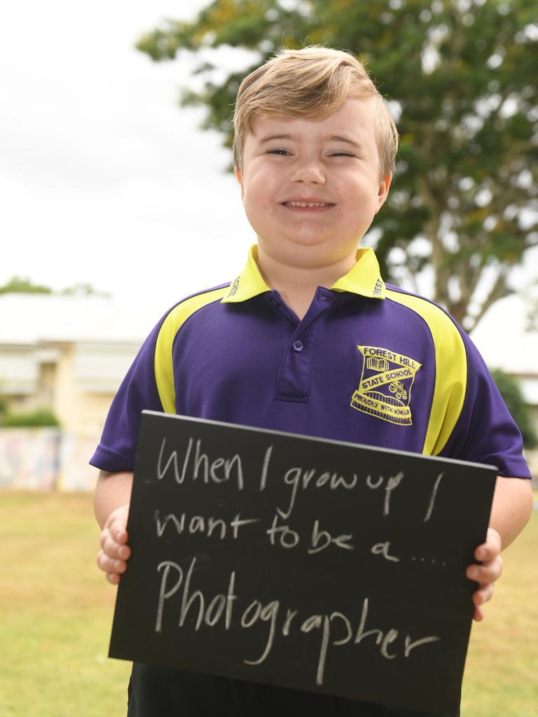
[[[397, 115], [393, 189], [365, 242], [384, 275], [427, 280], [470, 331], [511, 293], [511, 270], [538, 243], [536, 0], [214, 0], [192, 22], [168, 20], [137, 47], [152, 60], [198, 53], [204, 128], [232, 143], [242, 77], [280, 47], [349, 49]], [[212, 51], [249, 49], [225, 79]], [[424, 290], [422, 293], [428, 293]]]

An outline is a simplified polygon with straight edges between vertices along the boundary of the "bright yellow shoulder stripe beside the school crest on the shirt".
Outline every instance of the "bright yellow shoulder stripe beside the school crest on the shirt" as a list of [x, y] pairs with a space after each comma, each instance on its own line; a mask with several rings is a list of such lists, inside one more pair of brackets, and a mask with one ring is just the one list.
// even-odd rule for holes
[[435, 387], [423, 454], [438, 455], [456, 426], [465, 400], [467, 354], [463, 338], [453, 320], [430, 301], [390, 289], [387, 289], [387, 299], [420, 315], [433, 337]]

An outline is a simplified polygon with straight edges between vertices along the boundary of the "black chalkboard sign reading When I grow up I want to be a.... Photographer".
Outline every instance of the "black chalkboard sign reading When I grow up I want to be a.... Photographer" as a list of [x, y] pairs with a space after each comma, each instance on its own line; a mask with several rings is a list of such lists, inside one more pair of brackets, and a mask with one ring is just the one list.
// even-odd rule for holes
[[143, 412], [110, 657], [457, 712], [495, 478]]

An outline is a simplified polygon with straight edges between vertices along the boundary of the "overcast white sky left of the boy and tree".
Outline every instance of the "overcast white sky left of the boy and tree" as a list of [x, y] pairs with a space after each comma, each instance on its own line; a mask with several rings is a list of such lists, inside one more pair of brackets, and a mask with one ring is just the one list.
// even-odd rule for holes
[[[229, 153], [179, 109], [192, 60], [134, 49], [207, 0], [21, 0], [0, 10], [0, 283], [91, 282], [156, 316], [231, 280], [253, 231]], [[245, 53], [222, 62], [247, 65]]]

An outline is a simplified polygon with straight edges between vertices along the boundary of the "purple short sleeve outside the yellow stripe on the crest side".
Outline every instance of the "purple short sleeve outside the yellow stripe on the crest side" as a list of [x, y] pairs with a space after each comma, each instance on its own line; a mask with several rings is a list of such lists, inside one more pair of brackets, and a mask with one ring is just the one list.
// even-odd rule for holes
[[[459, 327], [458, 327], [459, 328]], [[494, 465], [499, 475], [531, 478], [521, 432], [482, 356], [461, 331], [467, 356], [467, 386], [461, 414], [439, 455]]]

